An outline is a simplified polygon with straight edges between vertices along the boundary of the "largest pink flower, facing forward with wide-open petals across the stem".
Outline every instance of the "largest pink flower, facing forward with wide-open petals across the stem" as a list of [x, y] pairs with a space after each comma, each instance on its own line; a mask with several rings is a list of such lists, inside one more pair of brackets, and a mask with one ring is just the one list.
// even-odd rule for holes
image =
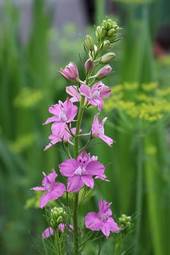
[[63, 176], [68, 177], [67, 191], [78, 192], [84, 185], [93, 188], [93, 177], [105, 180], [105, 167], [97, 157], [82, 152], [77, 159], [67, 159], [59, 165]]

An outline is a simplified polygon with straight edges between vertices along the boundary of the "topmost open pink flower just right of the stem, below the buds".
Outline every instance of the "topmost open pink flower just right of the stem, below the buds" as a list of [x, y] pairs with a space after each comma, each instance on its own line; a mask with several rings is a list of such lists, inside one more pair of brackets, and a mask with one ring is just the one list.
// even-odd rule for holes
[[97, 106], [101, 111], [103, 108], [103, 99], [110, 96], [111, 89], [102, 82], [97, 82], [92, 87], [82, 84], [80, 93], [85, 96], [87, 102], [93, 106]]

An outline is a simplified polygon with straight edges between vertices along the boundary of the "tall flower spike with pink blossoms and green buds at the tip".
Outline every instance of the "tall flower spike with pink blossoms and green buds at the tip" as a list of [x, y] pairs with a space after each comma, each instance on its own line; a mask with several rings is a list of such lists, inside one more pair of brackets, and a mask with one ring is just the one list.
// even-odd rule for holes
[[[67, 159], [59, 165], [59, 174], [66, 179], [63, 184], [56, 180], [58, 174], [52, 170], [48, 175], [44, 174], [42, 186], [34, 187], [34, 191], [42, 192], [40, 208], [46, 208], [49, 215], [49, 226], [43, 231], [42, 238], [53, 238], [57, 243], [57, 254], [81, 254], [87, 241], [84, 241], [86, 231], [92, 232], [91, 238], [96, 232], [108, 238], [112, 233], [119, 233], [122, 229], [112, 216], [111, 203], [100, 200], [98, 212], [87, 212], [84, 218], [84, 227], [81, 228], [78, 209], [80, 207], [80, 192], [87, 193], [93, 190], [95, 180], [107, 181], [105, 166], [97, 156], [87, 152], [88, 145], [94, 138], [99, 138], [111, 146], [113, 139], [104, 131], [103, 120], [99, 117], [103, 109], [105, 98], [111, 94], [111, 90], [102, 79], [112, 71], [109, 62], [114, 58], [113, 52], [108, 52], [118, 40], [119, 27], [111, 19], [106, 19], [96, 28], [95, 39], [87, 35], [84, 41], [87, 60], [84, 64], [84, 79], [80, 79], [78, 67], [69, 63], [60, 69], [60, 74], [74, 85], [66, 87], [67, 98], [64, 102], [49, 107], [51, 116], [45, 121], [45, 125], [51, 124], [49, 143], [45, 150], [61, 142], [66, 151]], [[98, 66], [101, 66], [98, 70]], [[103, 66], [104, 65], [104, 66]], [[83, 115], [89, 107], [94, 107], [97, 113], [94, 116], [91, 130], [84, 134], [82, 129]], [[87, 142], [81, 147], [81, 137], [88, 137]], [[54, 207], [54, 201], [59, 201], [60, 207]], [[53, 202], [51, 202], [53, 201]], [[73, 202], [73, 203], [70, 203]], [[95, 236], [96, 238], [96, 236]], [[68, 245], [68, 240], [71, 244]], [[57, 241], [56, 241], [57, 240]]]

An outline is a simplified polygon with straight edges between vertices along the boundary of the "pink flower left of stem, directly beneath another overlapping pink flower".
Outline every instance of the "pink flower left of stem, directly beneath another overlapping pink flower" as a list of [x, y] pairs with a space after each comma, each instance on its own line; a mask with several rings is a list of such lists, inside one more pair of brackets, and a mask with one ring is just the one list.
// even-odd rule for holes
[[65, 123], [53, 123], [51, 126], [51, 134], [49, 135], [49, 144], [45, 146], [44, 150], [49, 149], [51, 146], [58, 142], [71, 143], [72, 134], [75, 134], [76, 128], [71, 128], [71, 133], [68, 125]]

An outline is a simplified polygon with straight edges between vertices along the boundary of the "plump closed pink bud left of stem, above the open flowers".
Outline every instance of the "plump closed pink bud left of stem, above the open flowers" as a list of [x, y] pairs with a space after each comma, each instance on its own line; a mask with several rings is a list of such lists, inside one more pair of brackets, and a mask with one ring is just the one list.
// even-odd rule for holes
[[74, 63], [69, 63], [65, 68], [60, 69], [61, 75], [67, 80], [77, 80], [79, 78], [78, 68]]

